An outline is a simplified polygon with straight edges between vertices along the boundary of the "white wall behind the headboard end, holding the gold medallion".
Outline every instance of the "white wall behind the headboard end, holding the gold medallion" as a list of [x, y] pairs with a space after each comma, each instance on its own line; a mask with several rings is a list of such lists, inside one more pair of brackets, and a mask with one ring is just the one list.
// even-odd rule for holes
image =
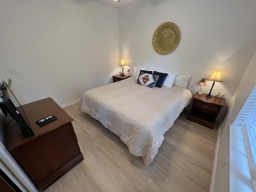
[[[225, 94], [228, 106], [256, 50], [255, 4], [250, 0], [133, 1], [119, 10], [120, 57], [130, 66], [158, 66], [192, 75], [188, 85], [192, 94], [199, 90], [199, 80], [221, 70], [223, 82], [215, 83], [212, 95]], [[156, 53], [152, 46], [153, 34], [164, 22], [174, 22], [181, 32], [180, 44], [168, 55]], [[208, 82], [204, 92], [211, 86]]]

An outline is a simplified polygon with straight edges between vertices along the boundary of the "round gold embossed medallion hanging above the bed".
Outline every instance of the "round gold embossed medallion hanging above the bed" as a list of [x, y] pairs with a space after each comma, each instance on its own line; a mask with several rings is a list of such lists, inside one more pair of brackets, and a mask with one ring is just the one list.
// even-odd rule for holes
[[180, 29], [172, 22], [161, 24], [152, 39], [154, 50], [161, 55], [172, 52], [180, 42]]

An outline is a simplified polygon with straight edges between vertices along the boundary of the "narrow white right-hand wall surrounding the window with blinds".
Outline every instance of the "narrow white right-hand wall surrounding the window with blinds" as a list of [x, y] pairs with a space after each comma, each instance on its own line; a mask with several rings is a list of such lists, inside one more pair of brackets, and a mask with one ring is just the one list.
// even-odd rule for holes
[[[232, 96], [228, 113], [223, 119], [222, 131], [220, 133], [219, 150], [216, 161], [216, 172], [214, 180], [214, 192], [227, 192], [229, 191], [229, 164], [222, 168], [222, 163], [228, 157], [229, 162], [229, 144], [230, 144], [230, 124], [238, 116], [248, 96], [256, 85], [256, 52], [244, 73], [236, 92]], [[238, 165], [239, 166], [239, 165]]]

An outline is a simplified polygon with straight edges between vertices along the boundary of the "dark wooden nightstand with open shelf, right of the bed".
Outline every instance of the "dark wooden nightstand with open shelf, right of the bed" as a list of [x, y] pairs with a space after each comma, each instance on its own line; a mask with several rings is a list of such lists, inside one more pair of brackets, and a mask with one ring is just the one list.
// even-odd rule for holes
[[220, 109], [224, 106], [224, 98], [216, 96], [209, 98], [206, 94], [199, 95], [197, 92], [193, 97], [192, 108], [187, 119], [212, 129]]

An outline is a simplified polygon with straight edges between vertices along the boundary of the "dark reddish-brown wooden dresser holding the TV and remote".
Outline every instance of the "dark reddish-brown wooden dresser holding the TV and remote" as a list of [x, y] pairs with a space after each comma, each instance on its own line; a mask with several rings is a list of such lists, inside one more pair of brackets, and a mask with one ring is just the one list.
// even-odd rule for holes
[[[36, 187], [45, 190], [84, 158], [71, 123], [73, 119], [52, 98], [22, 108], [34, 136], [23, 136], [19, 124], [11, 121], [6, 127], [8, 150]], [[49, 115], [55, 115], [57, 120], [42, 127], [36, 124], [36, 120]]]

